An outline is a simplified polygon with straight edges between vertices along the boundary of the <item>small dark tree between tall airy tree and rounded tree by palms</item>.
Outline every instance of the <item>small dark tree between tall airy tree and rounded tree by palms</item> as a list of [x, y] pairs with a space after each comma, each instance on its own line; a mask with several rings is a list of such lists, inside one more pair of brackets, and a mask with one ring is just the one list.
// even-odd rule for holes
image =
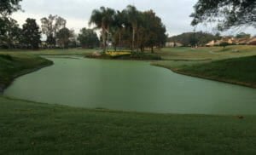
[[69, 39], [70, 37], [72, 37], [71, 35], [72, 35], [71, 32], [66, 27], [61, 28], [61, 30], [57, 32], [56, 34], [57, 42], [60, 44], [60, 46], [63, 49], [68, 48]]

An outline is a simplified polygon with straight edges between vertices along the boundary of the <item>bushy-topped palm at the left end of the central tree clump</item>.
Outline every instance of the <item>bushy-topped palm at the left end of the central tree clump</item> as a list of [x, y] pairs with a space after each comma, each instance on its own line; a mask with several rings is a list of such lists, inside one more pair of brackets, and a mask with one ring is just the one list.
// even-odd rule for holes
[[109, 33], [110, 26], [113, 24], [113, 15], [115, 11], [113, 9], [101, 7], [100, 9], [94, 9], [90, 16], [89, 25], [95, 24], [96, 29], [102, 29], [102, 45], [103, 52], [106, 52], [106, 32]]

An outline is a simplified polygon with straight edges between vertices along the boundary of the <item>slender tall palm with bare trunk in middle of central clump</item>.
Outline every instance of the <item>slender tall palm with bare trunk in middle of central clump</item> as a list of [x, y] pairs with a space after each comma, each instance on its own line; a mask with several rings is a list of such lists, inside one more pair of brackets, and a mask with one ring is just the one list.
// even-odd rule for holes
[[131, 51], [133, 52], [134, 44], [135, 44], [135, 34], [137, 32], [137, 16], [138, 11], [135, 6], [128, 5], [125, 9], [125, 13], [127, 15], [128, 21], [132, 26], [132, 43], [131, 43]]

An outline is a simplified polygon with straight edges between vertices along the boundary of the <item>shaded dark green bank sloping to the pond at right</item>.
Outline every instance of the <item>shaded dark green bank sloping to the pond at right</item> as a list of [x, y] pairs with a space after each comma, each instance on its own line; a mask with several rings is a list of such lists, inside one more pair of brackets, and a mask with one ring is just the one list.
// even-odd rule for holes
[[217, 80], [226, 83], [235, 83], [256, 88], [256, 56], [233, 58], [216, 61], [164, 61], [154, 63], [155, 66], [163, 66], [174, 72]]

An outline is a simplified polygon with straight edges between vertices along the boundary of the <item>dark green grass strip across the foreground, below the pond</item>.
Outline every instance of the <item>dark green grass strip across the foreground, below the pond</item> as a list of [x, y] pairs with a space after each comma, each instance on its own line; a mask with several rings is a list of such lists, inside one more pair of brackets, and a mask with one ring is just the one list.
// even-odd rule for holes
[[0, 154], [255, 154], [256, 118], [87, 110], [0, 97]]

